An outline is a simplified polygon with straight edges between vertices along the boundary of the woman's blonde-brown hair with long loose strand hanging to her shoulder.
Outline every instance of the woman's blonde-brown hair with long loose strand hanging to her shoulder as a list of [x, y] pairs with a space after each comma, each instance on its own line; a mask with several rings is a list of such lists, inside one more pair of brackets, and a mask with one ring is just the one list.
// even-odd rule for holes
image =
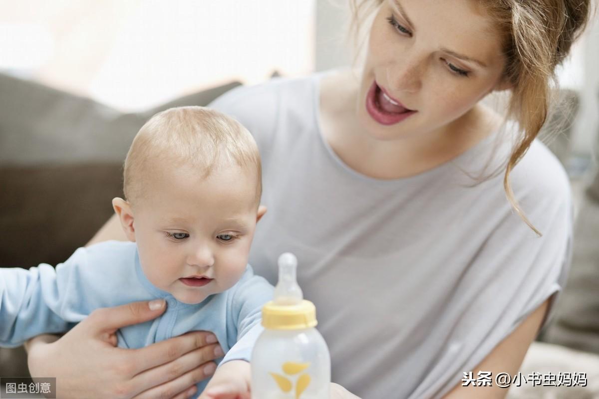
[[[512, 86], [506, 117], [521, 126], [521, 135], [507, 161], [503, 184], [518, 215], [528, 220], [510, 185], [510, 173], [530, 148], [547, 118], [555, 67], [570, 52], [571, 44], [586, 26], [591, 0], [472, 0], [483, 7], [504, 40], [504, 80]], [[361, 45], [360, 25], [383, 0], [350, 0], [351, 31]]]

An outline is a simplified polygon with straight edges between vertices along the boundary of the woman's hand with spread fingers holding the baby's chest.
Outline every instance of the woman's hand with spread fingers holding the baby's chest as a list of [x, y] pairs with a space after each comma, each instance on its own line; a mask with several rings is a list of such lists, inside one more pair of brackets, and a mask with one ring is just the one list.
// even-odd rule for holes
[[165, 308], [164, 300], [155, 300], [95, 310], [55, 342], [50, 336], [29, 342], [29, 371], [56, 377], [61, 399], [190, 397], [223, 354], [213, 334], [194, 331], [146, 348], [116, 348], [116, 330], [154, 319]]

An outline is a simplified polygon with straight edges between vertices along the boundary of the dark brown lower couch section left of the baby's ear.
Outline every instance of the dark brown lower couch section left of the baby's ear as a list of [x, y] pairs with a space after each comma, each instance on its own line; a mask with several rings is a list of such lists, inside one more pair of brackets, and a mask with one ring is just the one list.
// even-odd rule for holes
[[65, 261], [113, 214], [121, 175], [120, 163], [0, 167], [0, 267]]

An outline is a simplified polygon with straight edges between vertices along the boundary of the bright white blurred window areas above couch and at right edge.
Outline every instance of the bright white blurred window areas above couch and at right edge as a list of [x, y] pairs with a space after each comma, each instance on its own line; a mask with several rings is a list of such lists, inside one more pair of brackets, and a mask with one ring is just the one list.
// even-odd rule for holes
[[[344, 0], [0, 0], [0, 71], [121, 111], [216, 84], [349, 65]], [[580, 93], [572, 135], [585, 154], [599, 125], [599, 28], [558, 72]]]

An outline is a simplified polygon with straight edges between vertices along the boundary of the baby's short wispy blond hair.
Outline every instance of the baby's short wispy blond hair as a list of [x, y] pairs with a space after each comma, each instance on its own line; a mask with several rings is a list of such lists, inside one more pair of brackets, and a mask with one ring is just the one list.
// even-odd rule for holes
[[183, 106], [150, 118], [125, 159], [123, 193], [129, 202], [143, 193], [143, 176], [156, 167], [192, 167], [207, 177], [214, 167], [235, 163], [256, 173], [256, 202], [262, 194], [258, 146], [238, 121], [214, 109]]

